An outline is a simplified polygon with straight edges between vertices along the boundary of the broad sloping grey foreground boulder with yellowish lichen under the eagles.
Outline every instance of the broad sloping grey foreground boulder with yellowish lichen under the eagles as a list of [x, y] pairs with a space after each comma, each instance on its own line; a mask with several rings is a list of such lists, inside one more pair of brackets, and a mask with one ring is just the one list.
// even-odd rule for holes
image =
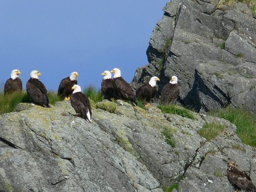
[[[231, 191], [228, 158], [255, 183], [255, 148], [241, 143], [230, 122], [106, 104], [113, 113], [93, 108], [92, 123], [74, 116], [68, 101], [50, 109], [20, 103], [17, 112], [1, 115], [0, 191], [160, 192], [172, 183], [178, 191]], [[210, 122], [225, 130], [206, 141], [198, 131]]]

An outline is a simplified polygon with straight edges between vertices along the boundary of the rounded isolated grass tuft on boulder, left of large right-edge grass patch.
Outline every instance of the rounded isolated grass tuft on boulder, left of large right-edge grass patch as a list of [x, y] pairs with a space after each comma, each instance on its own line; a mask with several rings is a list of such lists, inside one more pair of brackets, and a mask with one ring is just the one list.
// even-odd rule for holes
[[225, 126], [217, 122], [205, 123], [198, 133], [207, 141], [210, 141], [211, 139], [216, 138], [220, 133], [222, 133], [224, 129]]

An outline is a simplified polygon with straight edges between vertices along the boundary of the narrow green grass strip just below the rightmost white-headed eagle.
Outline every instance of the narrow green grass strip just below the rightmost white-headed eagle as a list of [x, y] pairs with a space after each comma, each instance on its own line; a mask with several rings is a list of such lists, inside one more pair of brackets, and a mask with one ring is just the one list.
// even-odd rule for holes
[[157, 106], [162, 113], [169, 113], [169, 114], [175, 114], [180, 115], [182, 117], [187, 117], [189, 119], [195, 119], [194, 115], [187, 109], [181, 108], [178, 105], [158, 105]]

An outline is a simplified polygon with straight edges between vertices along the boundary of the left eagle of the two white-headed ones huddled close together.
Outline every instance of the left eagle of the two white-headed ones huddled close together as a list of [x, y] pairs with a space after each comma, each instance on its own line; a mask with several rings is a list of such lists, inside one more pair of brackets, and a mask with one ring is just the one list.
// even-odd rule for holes
[[101, 82], [101, 93], [103, 94], [104, 99], [108, 99], [110, 101], [112, 98], [115, 98], [111, 72], [104, 71], [101, 75], [104, 75]]

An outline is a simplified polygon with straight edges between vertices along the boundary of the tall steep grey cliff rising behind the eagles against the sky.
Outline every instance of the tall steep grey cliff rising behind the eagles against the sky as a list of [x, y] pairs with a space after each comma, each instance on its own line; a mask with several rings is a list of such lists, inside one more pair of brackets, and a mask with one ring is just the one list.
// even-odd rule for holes
[[159, 93], [179, 78], [181, 103], [196, 111], [229, 104], [256, 113], [256, 17], [247, 5], [174, 0], [164, 7], [134, 88], [159, 76]]

